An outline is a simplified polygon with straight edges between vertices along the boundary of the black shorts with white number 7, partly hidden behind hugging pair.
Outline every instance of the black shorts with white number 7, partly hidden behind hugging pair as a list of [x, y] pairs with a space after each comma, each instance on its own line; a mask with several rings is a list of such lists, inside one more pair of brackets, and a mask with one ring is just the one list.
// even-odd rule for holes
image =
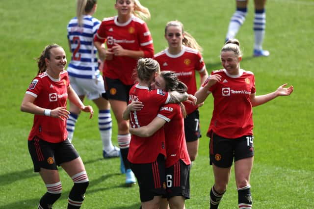
[[196, 141], [201, 138], [200, 114], [198, 109], [184, 118], [184, 133], [186, 142]]

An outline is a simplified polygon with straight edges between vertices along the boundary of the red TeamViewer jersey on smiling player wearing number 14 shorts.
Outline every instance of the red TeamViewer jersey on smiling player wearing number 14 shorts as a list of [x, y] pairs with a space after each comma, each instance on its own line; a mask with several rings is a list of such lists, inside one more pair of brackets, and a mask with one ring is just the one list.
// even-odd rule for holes
[[[255, 78], [250, 71], [240, 69], [233, 76], [225, 69], [212, 71], [211, 75], [221, 75], [221, 81], [212, 85], [209, 92], [214, 98], [214, 109], [209, 125], [210, 131], [225, 137], [238, 138], [253, 134], [253, 112], [250, 102], [255, 93]], [[202, 85], [206, 85], [208, 80]]]

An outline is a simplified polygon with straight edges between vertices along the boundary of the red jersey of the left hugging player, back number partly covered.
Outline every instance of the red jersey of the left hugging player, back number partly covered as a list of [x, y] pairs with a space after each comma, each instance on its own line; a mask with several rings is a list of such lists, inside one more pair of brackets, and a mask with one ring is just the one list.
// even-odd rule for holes
[[[160, 89], [150, 91], [148, 87], [138, 84], [130, 90], [129, 103], [135, 96], [144, 104], [144, 107], [140, 111], [131, 111], [130, 126], [132, 128], [148, 125], [157, 116], [160, 105], [167, 104], [170, 99], [168, 92]], [[131, 135], [128, 155], [131, 163], [154, 162], [159, 154], [166, 156], [163, 128], [150, 137]]]

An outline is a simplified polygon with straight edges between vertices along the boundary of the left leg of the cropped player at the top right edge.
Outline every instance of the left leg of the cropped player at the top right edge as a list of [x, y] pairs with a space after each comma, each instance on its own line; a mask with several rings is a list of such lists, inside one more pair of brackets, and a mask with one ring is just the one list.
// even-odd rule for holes
[[248, 0], [236, 0], [236, 10], [229, 22], [226, 41], [235, 38], [235, 35], [243, 25], [247, 14], [247, 4]]

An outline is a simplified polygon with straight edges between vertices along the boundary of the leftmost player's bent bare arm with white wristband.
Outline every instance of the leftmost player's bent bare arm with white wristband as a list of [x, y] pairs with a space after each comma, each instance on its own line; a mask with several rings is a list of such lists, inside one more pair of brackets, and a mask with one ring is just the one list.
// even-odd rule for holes
[[[36, 98], [34, 96], [30, 94], [25, 94], [24, 99], [21, 104], [21, 111], [28, 112], [35, 115], [45, 115], [44, 112], [45, 110], [47, 111], [48, 109], [35, 105], [34, 104], [35, 99]], [[64, 120], [64, 118], [65, 119], [69, 118], [69, 114], [70, 114], [66, 106], [57, 107], [55, 109], [49, 110], [48, 112], [49, 112], [49, 115], [47, 116], [59, 118], [62, 121]]]

